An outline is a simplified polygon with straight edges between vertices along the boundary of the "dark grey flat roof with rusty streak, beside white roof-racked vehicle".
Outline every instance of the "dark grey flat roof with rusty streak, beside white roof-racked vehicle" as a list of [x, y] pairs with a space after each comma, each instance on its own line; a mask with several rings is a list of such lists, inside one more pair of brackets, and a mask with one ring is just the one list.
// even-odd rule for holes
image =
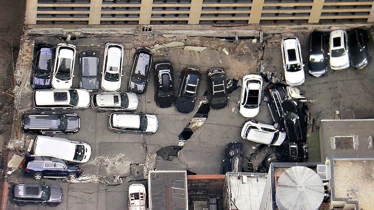
[[186, 171], [149, 171], [148, 200], [152, 210], [188, 209]]

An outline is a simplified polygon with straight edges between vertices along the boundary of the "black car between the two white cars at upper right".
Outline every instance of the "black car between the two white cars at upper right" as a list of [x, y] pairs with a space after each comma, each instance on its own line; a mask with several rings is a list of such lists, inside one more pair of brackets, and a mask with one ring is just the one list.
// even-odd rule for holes
[[325, 58], [326, 36], [319, 31], [313, 31], [309, 37], [308, 72], [313, 77], [322, 77], [327, 72], [327, 58]]

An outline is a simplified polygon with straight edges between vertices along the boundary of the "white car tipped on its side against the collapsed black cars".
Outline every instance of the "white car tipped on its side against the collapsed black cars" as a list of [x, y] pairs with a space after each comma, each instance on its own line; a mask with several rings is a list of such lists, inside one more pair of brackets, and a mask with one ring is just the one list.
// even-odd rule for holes
[[285, 140], [286, 133], [277, 130], [272, 125], [250, 120], [244, 124], [240, 136], [252, 142], [279, 146]]

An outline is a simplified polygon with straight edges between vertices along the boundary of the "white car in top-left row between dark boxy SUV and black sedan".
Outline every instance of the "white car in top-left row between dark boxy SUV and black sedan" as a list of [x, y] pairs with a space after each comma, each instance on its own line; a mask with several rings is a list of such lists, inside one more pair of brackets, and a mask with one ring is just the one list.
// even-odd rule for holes
[[116, 92], [121, 88], [123, 48], [119, 43], [105, 44], [101, 76], [101, 88], [105, 91]]

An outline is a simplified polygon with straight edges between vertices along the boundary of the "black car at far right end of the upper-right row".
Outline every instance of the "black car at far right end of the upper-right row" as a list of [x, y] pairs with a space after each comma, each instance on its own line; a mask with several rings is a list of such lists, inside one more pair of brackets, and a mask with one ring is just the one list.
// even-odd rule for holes
[[355, 28], [347, 33], [348, 53], [351, 65], [356, 69], [362, 69], [369, 64], [369, 35], [362, 28]]

